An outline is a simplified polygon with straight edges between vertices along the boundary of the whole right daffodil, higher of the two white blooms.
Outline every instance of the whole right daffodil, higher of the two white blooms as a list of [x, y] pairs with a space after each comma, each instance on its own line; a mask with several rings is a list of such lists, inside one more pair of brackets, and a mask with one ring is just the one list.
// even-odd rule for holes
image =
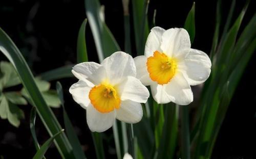
[[209, 57], [190, 46], [186, 30], [155, 27], [147, 37], [145, 56], [134, 59], [137, 78], [151, 86], [158, 103], [189, 104], [193, 101], [190, 85], [201, 84], [209, 77]]

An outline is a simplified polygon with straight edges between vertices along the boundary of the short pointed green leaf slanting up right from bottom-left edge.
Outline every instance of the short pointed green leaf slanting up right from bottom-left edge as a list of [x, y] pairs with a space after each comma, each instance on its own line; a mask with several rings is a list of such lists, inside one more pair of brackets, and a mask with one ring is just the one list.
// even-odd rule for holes
[[60, 130], [59, 133], [53, 135], [50, 139], [48, 139], [44, 145], [41, 146], [41, 148], [36, 152], [36, 154], [34, 155], [33, 159], [41, 159], [44, 157], [46, 151], [48, 150], [48, 148], [51, 146], [53, 140], [60, 135], [62, 132], [64, 131], [64, 129]]

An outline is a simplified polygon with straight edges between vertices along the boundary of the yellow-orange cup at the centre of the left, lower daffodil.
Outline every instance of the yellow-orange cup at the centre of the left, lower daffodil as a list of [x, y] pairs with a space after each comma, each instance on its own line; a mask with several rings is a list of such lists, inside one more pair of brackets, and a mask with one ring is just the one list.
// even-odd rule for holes
[[90, 90], [89, 99], [93, 107], [101, 113], [108, 113], [114, 111], [114, 109], [119, 109], [121, 102], [117, 91], [109, 84], [94, 86]]

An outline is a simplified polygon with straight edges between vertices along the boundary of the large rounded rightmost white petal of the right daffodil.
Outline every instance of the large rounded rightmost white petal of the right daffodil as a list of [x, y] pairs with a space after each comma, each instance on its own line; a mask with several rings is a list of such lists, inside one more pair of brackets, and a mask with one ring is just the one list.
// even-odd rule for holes
[[210, 75], [211, 61], [203, 51], [190, 49], [179, 67], [188, 84], [194, 86], [207, 80]]

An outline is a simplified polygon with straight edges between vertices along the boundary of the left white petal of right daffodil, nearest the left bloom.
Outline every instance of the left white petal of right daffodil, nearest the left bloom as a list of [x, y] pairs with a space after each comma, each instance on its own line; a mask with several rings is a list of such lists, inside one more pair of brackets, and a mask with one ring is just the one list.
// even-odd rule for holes
[[137, 71], [136, 78], [138, 78], [140, 82], [145, 86], [153, 85], [155, 82], [151, 80], [150, 74], [146, 68], [147, 58], [145, 56], [137, 56], [134, 58], [134, 62]]

